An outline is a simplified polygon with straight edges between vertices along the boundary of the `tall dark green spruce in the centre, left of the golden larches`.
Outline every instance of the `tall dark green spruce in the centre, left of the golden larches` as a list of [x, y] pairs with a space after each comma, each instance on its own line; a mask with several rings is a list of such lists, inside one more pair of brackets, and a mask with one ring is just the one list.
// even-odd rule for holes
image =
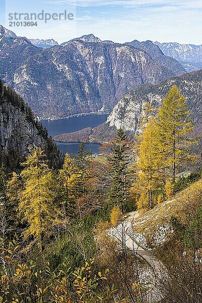
[[109, 201], [114, 206], [119, 206], [124, 213], [129, 202], [129, 164], [130, 141], [122, 129], [117, 131], [113, 141], [113, 153], [108, 159], [111, 175]]

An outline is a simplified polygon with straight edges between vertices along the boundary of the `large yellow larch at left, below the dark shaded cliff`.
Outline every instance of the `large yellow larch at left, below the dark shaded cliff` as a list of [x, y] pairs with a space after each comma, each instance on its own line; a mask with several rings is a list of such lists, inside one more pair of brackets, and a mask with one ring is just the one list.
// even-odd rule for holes
[[55, 192], [52, 190], [53, 176], [40, 148], [35, 148], [23, 165], [25, 168], [21, 177], [24, 188], [19, 196], [19, 212], [22, 222], [29, 224], [25, 237], [39, 239], [42, 250], [43, 240], [51, 234], [51, 228], [57, 224], [59, 216]]

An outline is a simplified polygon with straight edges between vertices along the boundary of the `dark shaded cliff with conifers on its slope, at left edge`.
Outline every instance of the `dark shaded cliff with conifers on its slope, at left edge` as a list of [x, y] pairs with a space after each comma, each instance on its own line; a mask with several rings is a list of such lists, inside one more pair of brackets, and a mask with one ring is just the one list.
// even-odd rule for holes
[[62, 153], [48, 138], [47, 130], [35, 120], [19, 96], [4, 89], [0, 93], [0, 161], [7, 168], [18, 168], [35, 146], [45, 150], [51, 166], [61, 166]]

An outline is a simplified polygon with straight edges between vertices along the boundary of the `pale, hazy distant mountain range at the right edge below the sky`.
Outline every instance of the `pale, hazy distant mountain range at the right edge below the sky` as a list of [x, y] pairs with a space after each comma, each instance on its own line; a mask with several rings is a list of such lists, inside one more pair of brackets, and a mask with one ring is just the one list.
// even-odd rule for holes
[[180, 43], [160, 43], [157, 44], [164, 55], [173, 57], [180, 62], [187, 72], [202, 68], [202, 45], [180, 44]]

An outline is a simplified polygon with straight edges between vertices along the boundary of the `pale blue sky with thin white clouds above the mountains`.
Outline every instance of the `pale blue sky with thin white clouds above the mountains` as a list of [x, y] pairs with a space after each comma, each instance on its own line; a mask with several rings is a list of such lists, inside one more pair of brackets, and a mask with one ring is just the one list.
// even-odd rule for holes
[[[1, 24], [27, 38], [53, 38], [62, 43], [93, 33], [102, 40], [120, 43], [137, 39], [202, 44], [202, 0], [0, 0], [0, 3]], [[33, 27], [10, 26], [9, 14], [38, 14], [42, 10], [49, 14], [66, 10], [74, 15], [74, 20], [46, 23], [38, 20]]]

